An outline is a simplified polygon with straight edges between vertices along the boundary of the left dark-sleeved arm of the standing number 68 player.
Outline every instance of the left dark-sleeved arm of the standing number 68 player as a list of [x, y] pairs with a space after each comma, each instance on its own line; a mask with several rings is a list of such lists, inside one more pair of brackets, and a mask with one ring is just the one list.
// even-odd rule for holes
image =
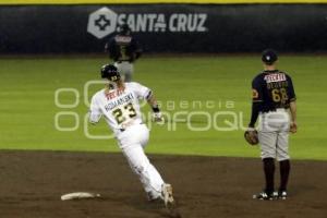
[[254, 78], [252, 82], [252, 112], [251, 120], [249, 123], [249, 130], [254, 130], [255, 123], [259, 114], [259, 108], [263, 102], [262, 97], [262, 85], [258, 77]]

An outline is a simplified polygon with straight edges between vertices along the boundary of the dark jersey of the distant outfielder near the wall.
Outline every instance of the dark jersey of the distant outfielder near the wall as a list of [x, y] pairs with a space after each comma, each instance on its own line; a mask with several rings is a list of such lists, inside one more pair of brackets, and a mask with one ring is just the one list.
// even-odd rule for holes
[[132, 36], [117, 35], [106, 45], [109, 56], [113, 61], [133, 62], [141, 56], [142, 49]]

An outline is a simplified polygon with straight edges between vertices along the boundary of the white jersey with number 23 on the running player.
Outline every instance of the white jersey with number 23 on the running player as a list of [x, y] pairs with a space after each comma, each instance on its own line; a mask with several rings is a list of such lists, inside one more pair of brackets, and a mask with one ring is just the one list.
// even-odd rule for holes
[[105, 117], [110, 129], [117, 133], [130, 125], [142, 123], [140, 99], [148, 99], [152, 90], [138, 83], [124, 83], [124, 88], [97, 92], [90, 101], [89, 121], [97, 123]]

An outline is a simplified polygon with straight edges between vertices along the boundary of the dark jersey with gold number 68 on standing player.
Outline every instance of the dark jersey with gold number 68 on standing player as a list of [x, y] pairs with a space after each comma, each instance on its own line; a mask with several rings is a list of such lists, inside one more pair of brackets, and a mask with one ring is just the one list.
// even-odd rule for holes
[[259, 73], [252, 82], [253, 102], [261, 102], [259, 111], [289, 108], [295, 100], [292, 78], [284, 72], [274, 70]]

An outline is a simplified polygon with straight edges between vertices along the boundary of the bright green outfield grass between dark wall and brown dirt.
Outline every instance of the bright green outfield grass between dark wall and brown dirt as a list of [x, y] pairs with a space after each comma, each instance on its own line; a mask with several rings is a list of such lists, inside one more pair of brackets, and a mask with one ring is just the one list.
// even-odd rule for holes
[[[0, 148], [118, 152], [114, 140], [89, 140], [83, 131], [87, 112], [83, 102], [83, 86], [85, 82], [99, 77], [99, 66], [106, 62], [106, 59], [83, 57], [0, 59]], [[291, 135], [291, 156], [326, 160], [327, 57], [286, 56], [281, 57], [279, 66], [292, 75], [298, 95], [299, 133]], [[250, 84], [261, 70], [256, 56], [141, 59], [135, 65], [134, 80], [153, 88], [165, 112], [172, 116], [184, 111], [184, 114], [170, 119], [174, 121], [170, 124], [153, 124], [147, 152], [257, 157], [258, 148], [245, 144], [239, 126], [249, 122]], [[55, 92], [62, 87], [76, 88], [81, 93], [76, 108], [56, 107]], [[92, 86], [90, 95], [99, 88], [100, 85]], [[192, 105], [193, 101], [197, 102]], [[206, 107], [207, 101], [214, 107]], [[233, 101], [232, 108], [227, 109], [228, 101]], [[60, 102], [73, 104], [74, 95], [60, 95]], [[172, 102], [175, 106], [173, 109]], [[55, 116], [60, 111], [77, 113], [81, 120], [77, 130], [56, 130]], [[144, 107], [143, 111], [147, 113], [148, 107]], [[192, 116], [189, 120], [194, 128], [207, 126], [217, 111], [233, 111], [237, 114], [237, 130], [222, 132], [209, 125], [207, 131], [191, 131], [183, 120], [195, 111], [207, 111], [210, 118]], [[216, 124], [230, 126], [225, 120], [232, 122], [233, 117], [220, 116]], [[61, 126], [74, 125], [72, 117], [61, 117], [59, 121]], [[169, 130], [172, 125], [175, 131]], [[89, 132], [111, 134], [104, 121], [96, 128], [89, 126]]]

